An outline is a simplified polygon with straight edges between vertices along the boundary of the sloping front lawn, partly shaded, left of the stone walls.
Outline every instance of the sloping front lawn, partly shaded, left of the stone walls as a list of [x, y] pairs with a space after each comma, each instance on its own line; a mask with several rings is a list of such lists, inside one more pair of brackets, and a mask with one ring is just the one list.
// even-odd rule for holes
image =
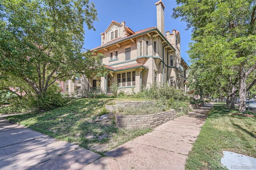
[[[56, 139], [76, 143], [86, 149], [100, 147], [106, 152], [118, 145], [151, 131], [150, 129], [119, 129], [115, 119], [109, 125], [94, 122], [105, 105], [116, 101], [138, 100], [133, 98], [95, 98], [72, 100], [64, 107], [41, 113], [27, 113], [6, 117], [9, 121], [25, 125]], [[140, 99], [143, 100], [143, 99]], [[94, 139], [86, 137], [94, 136]]]

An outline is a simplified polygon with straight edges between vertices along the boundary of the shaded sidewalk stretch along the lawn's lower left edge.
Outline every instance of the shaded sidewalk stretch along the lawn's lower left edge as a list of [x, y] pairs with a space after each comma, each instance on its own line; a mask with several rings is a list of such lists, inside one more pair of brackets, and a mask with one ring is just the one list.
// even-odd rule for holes
[[0, 170], [80, 169], [100, 157], [0, 117]]

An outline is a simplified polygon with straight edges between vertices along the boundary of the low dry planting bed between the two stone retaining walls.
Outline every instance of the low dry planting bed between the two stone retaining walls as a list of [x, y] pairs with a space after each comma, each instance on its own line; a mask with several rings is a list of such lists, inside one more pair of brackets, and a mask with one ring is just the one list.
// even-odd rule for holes
[[136, 107], [118, 107], [117, 113], [120, 115], [148, 115], [162, 111], [164, 109], [157, 104], [143, 104]]

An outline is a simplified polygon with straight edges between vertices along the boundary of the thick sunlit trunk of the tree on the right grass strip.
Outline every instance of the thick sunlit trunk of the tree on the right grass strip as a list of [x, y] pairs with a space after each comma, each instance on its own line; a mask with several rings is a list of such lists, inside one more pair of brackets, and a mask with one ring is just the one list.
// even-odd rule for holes
[[239, 74], [239, 111], [245, 113], [246, 111], [246, 74], [240, 72]]

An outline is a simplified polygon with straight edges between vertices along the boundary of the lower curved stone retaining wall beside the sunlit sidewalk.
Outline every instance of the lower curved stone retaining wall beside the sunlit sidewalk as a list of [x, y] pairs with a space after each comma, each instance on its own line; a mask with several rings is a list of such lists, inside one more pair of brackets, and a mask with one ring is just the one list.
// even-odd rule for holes
[[176, 117], [174, 109], [150, 115], [116, 115], [116, 126], [126, 129], [154, 128]]

